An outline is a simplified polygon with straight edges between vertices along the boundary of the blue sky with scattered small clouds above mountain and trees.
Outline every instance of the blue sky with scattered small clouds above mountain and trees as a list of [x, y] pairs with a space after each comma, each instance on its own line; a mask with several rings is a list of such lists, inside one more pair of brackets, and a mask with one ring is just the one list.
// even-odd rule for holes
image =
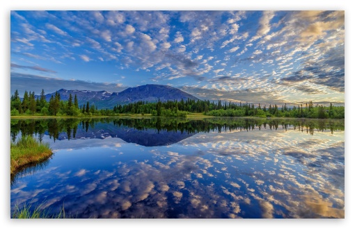
[[11, 11], [11, 94], [161, 84], [200, 99], [345, 101], [344, 11]]

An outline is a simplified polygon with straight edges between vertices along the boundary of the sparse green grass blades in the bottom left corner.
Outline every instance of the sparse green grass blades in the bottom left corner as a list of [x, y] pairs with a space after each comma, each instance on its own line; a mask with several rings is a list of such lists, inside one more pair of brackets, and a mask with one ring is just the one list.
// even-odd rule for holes
[[[64, 205], [58, 214], [49, 214], [49, 209], [43, 207], [44, 203], [36, 206], [34, 210], [31, 211], [32, 204], [24, 204], [23, 207], [19, 208], [15, 205], [15, 208], [11, 211], [12, 219], [65, 219]], [[72, 218], [72, 217], [69, 217]]]

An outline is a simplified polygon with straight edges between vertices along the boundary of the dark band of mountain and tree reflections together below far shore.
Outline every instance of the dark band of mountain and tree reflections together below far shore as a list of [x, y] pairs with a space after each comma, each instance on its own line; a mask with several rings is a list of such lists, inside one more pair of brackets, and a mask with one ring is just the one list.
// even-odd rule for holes
[[164, 146], [180, 142], [195, 133], [218, 133], [232, 130], [251, 131], [269, 129], [271, 131], [294, 129], [313, 135], [319, 131], [344, 131], [344, 119], [252, 119], [252, 118], [212, 118], [212, 119], [11, 119], [10, 135], [13, 142], [17, 135], [36, 134], [42, 141], [44, 135], [56, 140], [119, 137], [125, 142], [143, 146]]

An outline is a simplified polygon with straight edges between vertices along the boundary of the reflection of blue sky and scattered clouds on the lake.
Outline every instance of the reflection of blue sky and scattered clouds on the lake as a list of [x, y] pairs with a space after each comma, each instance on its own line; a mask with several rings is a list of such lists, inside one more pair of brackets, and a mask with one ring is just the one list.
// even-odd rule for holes
[[[267, 131], [153, 148], [95, 139], [107, 148], [58, 150], [53, 165], [19, 179], [11, 203], [64, 203], [79, 218], [344, 218], [344, 133]], [[123, 154], [112, 158], [118, 144]], [[58, 166], [83, 152], [79, 169]]]

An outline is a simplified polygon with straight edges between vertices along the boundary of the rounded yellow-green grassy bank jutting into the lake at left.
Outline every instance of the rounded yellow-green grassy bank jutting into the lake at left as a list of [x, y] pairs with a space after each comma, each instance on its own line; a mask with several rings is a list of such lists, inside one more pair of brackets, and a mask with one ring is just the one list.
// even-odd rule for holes
[[42, 144], [32, 136], [23, 136], [16, 143], [11, 142], [10, 149], [11, 175], [18, 169], [41, 162], [53, 154], [48, 143]]

